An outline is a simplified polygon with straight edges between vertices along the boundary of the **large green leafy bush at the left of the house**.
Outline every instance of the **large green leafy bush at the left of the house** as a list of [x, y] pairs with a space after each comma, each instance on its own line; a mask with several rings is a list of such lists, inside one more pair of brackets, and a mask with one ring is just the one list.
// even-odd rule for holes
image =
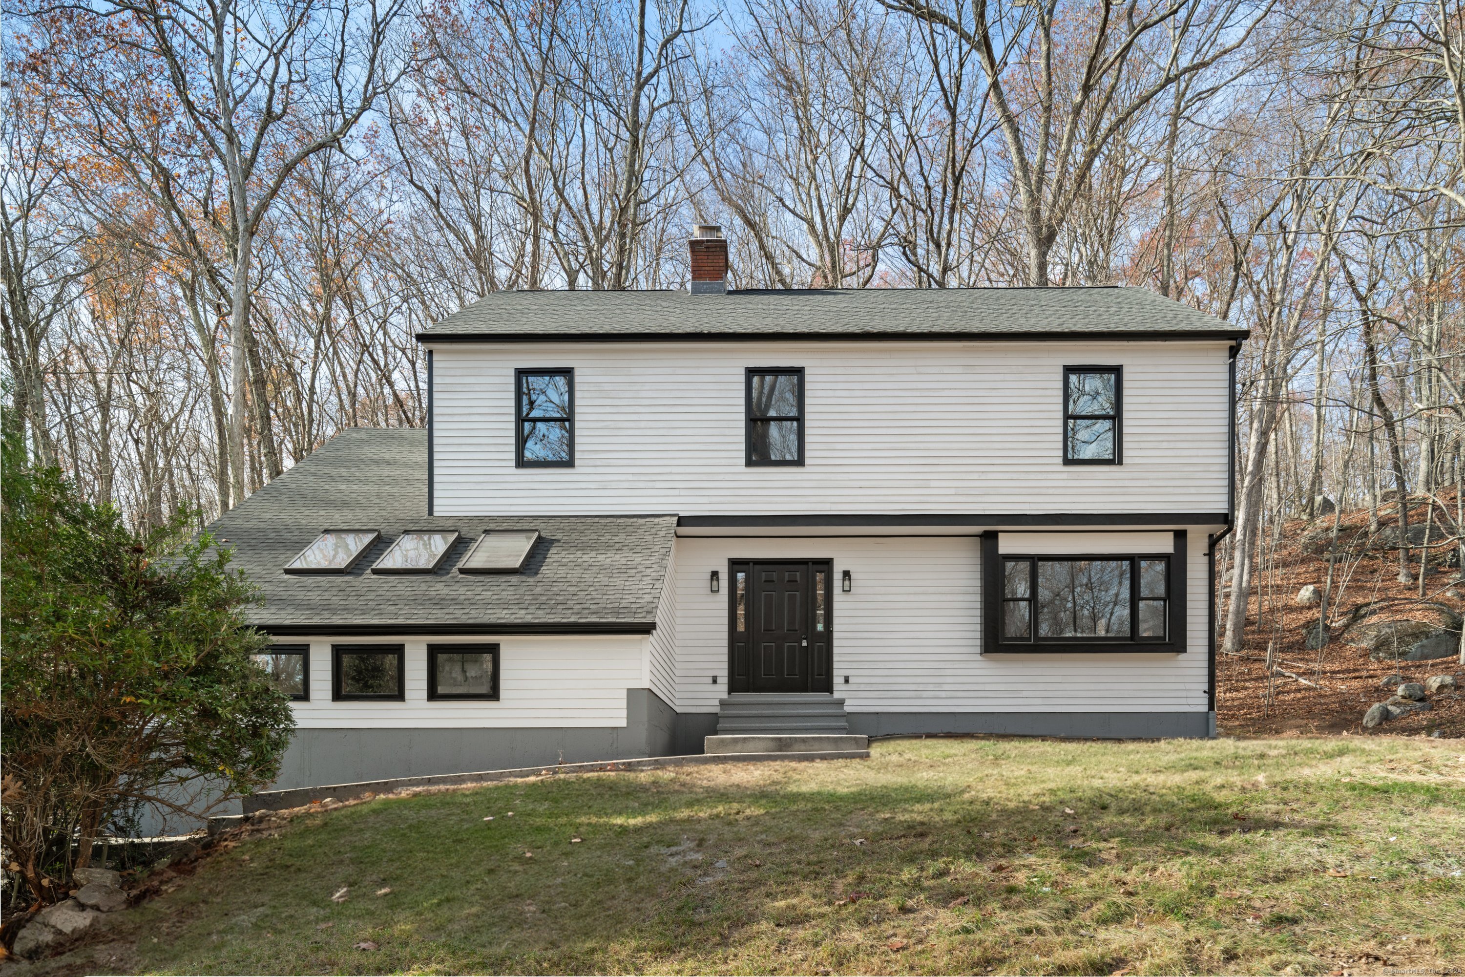
[[270, 784], [293, 721], [251, 658], [253, 589], [189, 513], [132, 529], [13, 432], [0, 489], [0, 822], [6, 867], [51, 902], [125, 811]]

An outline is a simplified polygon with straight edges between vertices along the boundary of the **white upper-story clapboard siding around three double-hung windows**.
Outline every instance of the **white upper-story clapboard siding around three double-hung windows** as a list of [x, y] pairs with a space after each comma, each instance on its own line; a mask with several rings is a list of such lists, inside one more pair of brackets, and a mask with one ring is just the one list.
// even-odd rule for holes
[[[1124, 464], [1062, 464], [1064, 365], [1124, 366]], [[514, 368], [574, 368], [576, 464], [514, 467]], [[806, 464], [744, 466], [744, 368], [806, 371]], [[435, 511], [1223, 513], [1226, 344], [440, 344]]]

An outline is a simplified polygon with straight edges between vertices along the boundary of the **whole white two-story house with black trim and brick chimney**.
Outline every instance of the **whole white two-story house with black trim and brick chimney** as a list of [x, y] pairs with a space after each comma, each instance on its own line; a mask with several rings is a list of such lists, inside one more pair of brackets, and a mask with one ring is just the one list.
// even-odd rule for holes
[[513, 291], [215, 524], [278, 787], [713, 734], [1214, 734], [1245, 330], [1143, 289]]

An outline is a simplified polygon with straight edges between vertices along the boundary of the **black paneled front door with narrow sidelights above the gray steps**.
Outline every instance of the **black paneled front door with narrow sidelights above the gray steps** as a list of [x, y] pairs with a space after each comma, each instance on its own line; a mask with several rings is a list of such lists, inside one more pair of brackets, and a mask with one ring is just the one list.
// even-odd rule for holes
[[826, 560], [734, 561], [731, 691], [834, 691]]

